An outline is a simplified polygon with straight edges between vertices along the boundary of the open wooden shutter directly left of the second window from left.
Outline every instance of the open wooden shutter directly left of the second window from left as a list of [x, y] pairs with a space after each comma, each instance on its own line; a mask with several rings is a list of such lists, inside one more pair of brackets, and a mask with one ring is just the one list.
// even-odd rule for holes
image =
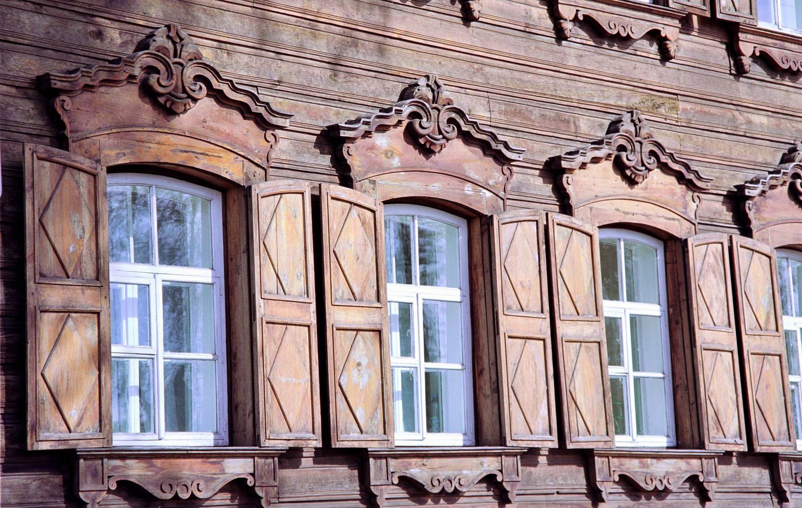
[[366, 194], [320, 187], [331, 445], [393, 445], [384, 215]]

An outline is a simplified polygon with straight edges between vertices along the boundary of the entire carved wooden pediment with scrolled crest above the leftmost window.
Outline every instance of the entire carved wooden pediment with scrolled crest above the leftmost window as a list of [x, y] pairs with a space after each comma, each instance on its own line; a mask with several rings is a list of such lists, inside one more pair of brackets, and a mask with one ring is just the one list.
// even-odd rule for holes
[[287, 127], [292, 116], [224, 78], [173, 23], [146, 35], [131, 55], [50, 72], [39, 81], [53, 96], [67, 148], [95, 160], [105, 151], [105, 165], [158, 159], [170, 150], [177, 152], [168, 159], [197, 165], [202, 154], [213, 152], [217, 164], [232, 172], [225, 177], [264, 179], [275, 130]]

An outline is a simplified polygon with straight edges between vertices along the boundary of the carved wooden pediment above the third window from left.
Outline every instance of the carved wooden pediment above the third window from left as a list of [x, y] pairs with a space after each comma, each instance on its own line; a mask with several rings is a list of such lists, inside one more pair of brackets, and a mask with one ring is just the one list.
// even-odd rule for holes
[[[652, 221], [676, 222], [662, 229], [678, 235], [694, 233], [699, 193], [712, 181], [667, 149], [638, 111], [615, 118], [602, 139], [551, 162], [560, 174], [557, 192], [566, 213], [587, 206], [621, 209], [623, 201], [637, 201], [637, 207], [624, 211], [637, 208]], [[603, 221], [596, 217], [594, 222]]]

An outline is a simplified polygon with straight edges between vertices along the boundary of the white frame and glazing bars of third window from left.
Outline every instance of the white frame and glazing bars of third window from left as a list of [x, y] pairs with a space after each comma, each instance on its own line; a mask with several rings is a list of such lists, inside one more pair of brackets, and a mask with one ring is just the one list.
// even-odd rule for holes
[[[671, 380], [671, 352], [668, 328], [668, 303], [666, 292], [666, 262], [665, 246], [663, 242], [649, 235], [631, 230], [618, 228], [604, 228], [599, 230], [599, 240], [604, 238], [618, 239], [618, 271], [620, 274], [619, 295], [622, 301], [604, 300], [604, 316], [621, 319], [622, 330], [622, 356], [623, 366], [608, 366], [608, 376], [623, 376], [626, 379], [625, 410], [629, 421], [629, 434], [616, 434], [615, 445], [621, 447], [668, 447], [677, 444], [674, 422], [674, 384]], [[626, 274], [624, 273], [623, 240], [642, 243], [657, 250], [658, 264], [658, 292], [660, 303], [636, 303], [626, 301]], [[602, 274], [603, 276], [603, 274]], [[632, 370], [632, 336], [630, 334], [630, 315], [659, 316], [662, 334], [662, 364], [665, 371], [662, 374], [652, 372], [634, 372]], [[666, 436], [642, 436], [636, 433], [635, 390], [634, 378], [664, 379], [666, 388]]]

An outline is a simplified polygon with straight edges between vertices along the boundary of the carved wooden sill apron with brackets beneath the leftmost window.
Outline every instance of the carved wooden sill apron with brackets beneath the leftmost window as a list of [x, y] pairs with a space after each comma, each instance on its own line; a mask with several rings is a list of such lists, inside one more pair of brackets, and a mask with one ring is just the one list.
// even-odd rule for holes
[[261, 506], [278, 492], [278, 456], [285, 448], [78, 450], [79, 498], [98, 506], [119, 482], [131, 482], [157, 499], [211, 498], [229, 482], [253, 487]]

